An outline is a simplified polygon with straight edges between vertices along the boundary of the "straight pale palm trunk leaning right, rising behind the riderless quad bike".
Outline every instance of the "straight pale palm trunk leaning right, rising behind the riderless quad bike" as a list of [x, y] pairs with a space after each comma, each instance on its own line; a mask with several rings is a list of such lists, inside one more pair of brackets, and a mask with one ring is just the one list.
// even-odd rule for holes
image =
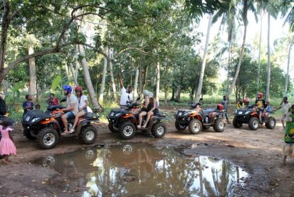
[[202, 84], [203, 84], [204, 71], [205, 71], [205, 65], [206, 65], [206, 56], [207, 56], [207, 49], [208, 49], [208, 42], [209, 42], [209, 34], [211, 32], [211, 18], [212, 18], [211, 15], [209, 15], [208, 27], [206, 32], [206, 42], [205, 42], [205, 48], [204, 48], [204, 56], [203, 56], [202, 65], [201, 65], [201, 73], [199, 77], [198, 89], [194, 98], [195, 103], [199, 102], [201, 91], [202, 91]]

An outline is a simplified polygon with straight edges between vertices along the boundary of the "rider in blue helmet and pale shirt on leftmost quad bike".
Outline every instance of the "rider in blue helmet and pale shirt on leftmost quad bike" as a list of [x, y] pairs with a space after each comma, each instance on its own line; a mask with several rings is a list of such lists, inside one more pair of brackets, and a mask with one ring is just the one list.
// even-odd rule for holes
[[66, 96], [66, 108], [61, 109], [62, 111], [66, 111], [66, 113], [61, 116], [61, 120], [64, 123], [63, 134], [69, 134], [67, 120], [73, 119], [78, 113], [78, 98], [76, 98], [74, 94], [71, 94], [71, 91], [73, 90], [71, 86], [64, 85], [62, 89], [64, 91], [64, 95]]

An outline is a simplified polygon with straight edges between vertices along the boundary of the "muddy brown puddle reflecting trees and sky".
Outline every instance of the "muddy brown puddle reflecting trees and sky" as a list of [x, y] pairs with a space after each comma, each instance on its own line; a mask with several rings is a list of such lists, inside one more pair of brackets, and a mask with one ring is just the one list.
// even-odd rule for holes
[[230, 196], [247, 177], [228, 161], [148, 144], [84, 149], [37, 164], [59, 172], [47, 184], [81, 196]]

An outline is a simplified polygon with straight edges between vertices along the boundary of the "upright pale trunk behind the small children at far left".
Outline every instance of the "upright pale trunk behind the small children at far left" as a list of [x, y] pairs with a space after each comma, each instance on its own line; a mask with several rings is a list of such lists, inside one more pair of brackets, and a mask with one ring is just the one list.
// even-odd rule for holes
[[[28, 54], [33, 54], [34, 48], [33, 46], [28, 47]], [[28, 94], [33, 95], [35, 100], [35, 95], [37, 94], [37, 77], [36, 77], [36, 65], [35, 58], [30, 58], [28, 60], [28, 66], [30, 71], [30, 86], [28, 88]]]

